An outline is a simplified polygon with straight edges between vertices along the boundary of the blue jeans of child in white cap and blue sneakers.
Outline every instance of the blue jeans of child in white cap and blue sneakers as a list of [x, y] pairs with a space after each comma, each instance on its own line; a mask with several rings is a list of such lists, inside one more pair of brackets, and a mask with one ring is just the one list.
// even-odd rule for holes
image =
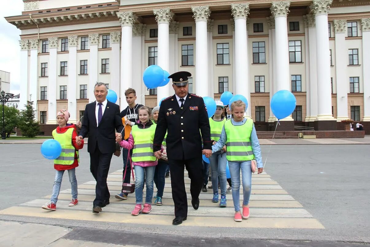
[[220, 178], [221, 195], [226, 195], [226, 153], [217, 152], [209, 157], [211, 164], [211, 181], [213, 194], [218, 193], [218, 178]]

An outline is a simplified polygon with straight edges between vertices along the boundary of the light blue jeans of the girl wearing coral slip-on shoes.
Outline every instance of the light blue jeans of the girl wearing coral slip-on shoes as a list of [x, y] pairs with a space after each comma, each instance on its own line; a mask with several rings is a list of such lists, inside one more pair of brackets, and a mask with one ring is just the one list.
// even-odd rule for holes
[[235, 211], [240, 211], [239, 190], [240, 190], [240, 169], [242, 170], [243, 183], [243, 205], [249, 204], [250, 191], [252, 189], [251, 161], [229, 161], [229, 169], [232, 183], [232, 200]]

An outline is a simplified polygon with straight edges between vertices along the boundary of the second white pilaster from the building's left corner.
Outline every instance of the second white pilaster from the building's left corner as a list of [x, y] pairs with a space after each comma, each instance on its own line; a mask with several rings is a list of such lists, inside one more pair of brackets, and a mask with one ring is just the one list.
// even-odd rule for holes
[[[38, 88], [38, 75], [40, 74], [38, 65], [38, 39], [31, 39], [30, 40], [30, 49], [31, 49], [31, 57], [30, 57], [30, 89], [28, 90], [28, 94], [31, 96], [27, 96], [27, 99], [30, 99], [34, 102], [33, 106], [37, 112], [37, 88]], [[36, 120], [38, 120], [38, 114], [36, 114]]]

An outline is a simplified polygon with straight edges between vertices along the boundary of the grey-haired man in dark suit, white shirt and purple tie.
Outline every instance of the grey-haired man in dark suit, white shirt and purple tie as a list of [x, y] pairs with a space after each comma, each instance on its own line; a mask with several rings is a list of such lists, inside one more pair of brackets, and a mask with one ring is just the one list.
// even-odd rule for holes
[[101, 212], [101, 208], [109, 204], [107, 177], [115, 152], [116, 137], [122, 137], [118, 134], [123, 129], [120, 107], [108, 101], [107, 94], [108, 89], [104, 83], [95, 84], [96, 101], [86, 105], [80, 136], [76, 138], [79, 143], [89, 134], [87, 151], [90, 153], [90, 171], [96, 180], [92, 213]]

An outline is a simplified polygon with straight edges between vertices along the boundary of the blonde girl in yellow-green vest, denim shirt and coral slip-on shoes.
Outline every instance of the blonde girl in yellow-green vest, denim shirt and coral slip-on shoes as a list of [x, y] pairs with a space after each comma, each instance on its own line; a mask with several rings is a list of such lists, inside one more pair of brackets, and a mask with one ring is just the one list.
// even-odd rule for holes
[[[214, 142], [212, 152], [221, 150], [226, 144], [226, 159], [229, 163], [229, 170], [232, 181], [232, 198], [235, 208], [235, 221], [242, 221], [249, 217], [249, 198], [252, 188], [252, 172], [255, 171], [257, 161], [258, 174], [263, 171], [261, 149], [259, 146], [256, 129], [252, 119], [243, 117], [246, 110], [246, 103], [242, 100], [233, 101], [231, 112], [233, 119], [225, 122], [220, 139]], [[243, 212], [240, 213], [239, 190], [240, 170], [242, 171], [243, 185]]]

